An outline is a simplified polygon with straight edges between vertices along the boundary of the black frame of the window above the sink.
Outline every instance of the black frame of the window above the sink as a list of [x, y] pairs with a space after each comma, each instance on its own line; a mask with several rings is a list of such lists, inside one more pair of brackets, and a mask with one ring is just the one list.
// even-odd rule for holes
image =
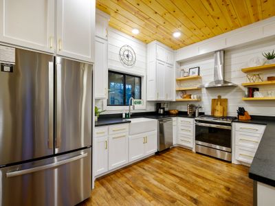
[[[123, 87], [123, 102], [124, 102], [124, 104], [108, 104], [109, 103], [109, 73], [115, 73], [115, 74], [123, 76], [123, 86], [124, 86]], [[142, 77], [141, 76], [135, 76], [135, 75], [129, 74], [129, 73], [122, 73], [122, 72], [118, 72], [118, 71], [108, 70], [107, 106], [129, 106], [129, 104], [127, 105], [127, 102], [126, 102], [126, 76], [140, 79], [140, 98], [142, 99]]]

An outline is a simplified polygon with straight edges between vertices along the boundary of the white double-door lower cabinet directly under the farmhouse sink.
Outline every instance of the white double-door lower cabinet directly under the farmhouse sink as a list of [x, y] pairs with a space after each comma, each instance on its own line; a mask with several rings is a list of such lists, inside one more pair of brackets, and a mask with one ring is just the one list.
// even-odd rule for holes
[[129, 137], [129, 162], [157, 152], [157, 130]]

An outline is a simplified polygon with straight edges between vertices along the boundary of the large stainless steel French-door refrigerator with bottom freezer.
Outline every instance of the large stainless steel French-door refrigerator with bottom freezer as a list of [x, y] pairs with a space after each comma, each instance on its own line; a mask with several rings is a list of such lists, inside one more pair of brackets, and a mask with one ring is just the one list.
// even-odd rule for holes
[[91, 192], [92, 66], [0, 46], [0, 205]]

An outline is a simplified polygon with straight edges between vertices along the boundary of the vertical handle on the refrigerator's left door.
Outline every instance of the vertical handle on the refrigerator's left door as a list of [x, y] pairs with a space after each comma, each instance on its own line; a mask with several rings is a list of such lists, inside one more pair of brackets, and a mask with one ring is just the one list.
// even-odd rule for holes
[[49, 62], [48, 148], [54, 148], [54, 62]]

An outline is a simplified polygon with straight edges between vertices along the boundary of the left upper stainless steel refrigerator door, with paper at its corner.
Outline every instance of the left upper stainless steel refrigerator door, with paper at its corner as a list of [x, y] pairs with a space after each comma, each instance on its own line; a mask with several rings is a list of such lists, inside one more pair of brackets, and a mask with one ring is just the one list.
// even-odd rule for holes
[[0, 71], [0, 165], [54, 155], [54, 57], [15, 49], [12, 70]]

